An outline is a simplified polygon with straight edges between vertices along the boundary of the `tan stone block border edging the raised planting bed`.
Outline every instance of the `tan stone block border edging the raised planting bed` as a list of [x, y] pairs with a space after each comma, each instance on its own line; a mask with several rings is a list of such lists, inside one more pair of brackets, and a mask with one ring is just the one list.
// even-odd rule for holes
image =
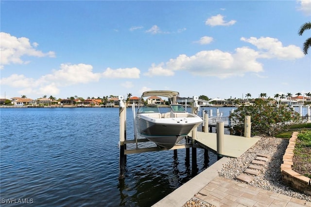
[[296, 145], [296, 139], [298, 132], [293, 132], [292, 137], [289, 140], [287, 149], [283, 156], [283, 164], [281, 164], [281, 178], [282, 182], [307, 195], [311, 195], [311, 179], [303, 176], [299, 173], [296, 173], [292, 167], [294, 166], [293, 157], [294, 157], [294, 148]]

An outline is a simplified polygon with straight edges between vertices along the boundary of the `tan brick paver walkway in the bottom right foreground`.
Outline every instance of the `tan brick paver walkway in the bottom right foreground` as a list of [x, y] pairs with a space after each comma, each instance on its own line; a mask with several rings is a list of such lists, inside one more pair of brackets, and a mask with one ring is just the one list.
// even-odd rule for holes
[[195, 197], [216, 207], [311, 207], [311, 202], [215, 177]]

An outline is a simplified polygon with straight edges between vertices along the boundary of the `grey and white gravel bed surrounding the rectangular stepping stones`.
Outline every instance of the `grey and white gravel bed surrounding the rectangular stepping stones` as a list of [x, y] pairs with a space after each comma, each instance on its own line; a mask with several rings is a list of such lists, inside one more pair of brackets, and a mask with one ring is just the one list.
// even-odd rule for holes
[[[282, 183], [280, 166], [288, 143], [288, 139], [262, 137], [252, 148], [248, 149], [240, 157], [230, 158], [229, 162], [223, 166], [223, 169], [218, 174], [227, 179], [240, 182], [235, 178], [244, 172], [251, 161], [256, 158], [257, 154], [270, 155], [261, 173], [254, 176], [255, 179], [248, 185], [311, 202], [311, 196], [291, 190]], [[184, 207], [213, 206], [193, 197]]]

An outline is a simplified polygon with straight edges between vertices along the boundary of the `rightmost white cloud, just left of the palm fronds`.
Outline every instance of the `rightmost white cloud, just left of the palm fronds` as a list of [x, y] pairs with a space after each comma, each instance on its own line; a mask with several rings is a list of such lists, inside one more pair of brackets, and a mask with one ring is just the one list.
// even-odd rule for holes
[[271, 37], [256, 37], [241, 38], [242, 41], [251, 43], [259, 49], [261, 58], [277, 58], [283, 60], [294, 60], [304, 57], [301, 49], [295, 45], [284, 47], [282, 42]]

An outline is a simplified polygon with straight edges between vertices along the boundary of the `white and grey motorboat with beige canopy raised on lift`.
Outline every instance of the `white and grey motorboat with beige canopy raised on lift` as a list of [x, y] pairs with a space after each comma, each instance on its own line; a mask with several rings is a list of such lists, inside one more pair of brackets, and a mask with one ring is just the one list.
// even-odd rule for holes
[[[161, 113], [159, 104], [144, 104], [147, 97], [167, 97], [171, 103], [168, 112]], [[171, 149], [185, 138], [203, 120], [201, 117], [188, 113], [181, 104], [177, 104], [179, 92], [169, 90], [145, 91], [140, 97], [138, 111], [135, 115], [138, 136], [147, 138], [159, 147]]]

